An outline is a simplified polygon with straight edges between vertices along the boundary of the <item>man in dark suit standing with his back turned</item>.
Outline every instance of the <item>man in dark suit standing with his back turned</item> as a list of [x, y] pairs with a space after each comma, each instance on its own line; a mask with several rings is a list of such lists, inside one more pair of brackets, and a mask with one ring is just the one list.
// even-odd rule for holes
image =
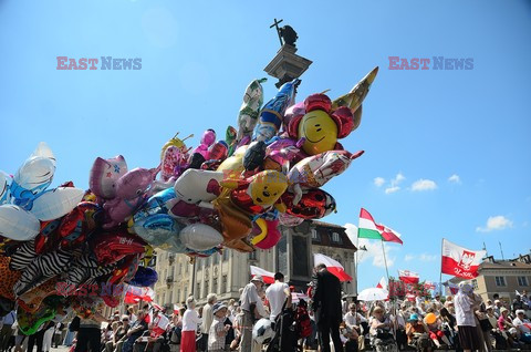
[[325, 265], [320, 263], [315, 267], [315, 283], [312, 309], [315, 312], [321, 352], [330, 352], [331, 334], [335, 352], [343, 352], [340, 339], [340, 323], [343, 320], [340, 279], [326, 270]]

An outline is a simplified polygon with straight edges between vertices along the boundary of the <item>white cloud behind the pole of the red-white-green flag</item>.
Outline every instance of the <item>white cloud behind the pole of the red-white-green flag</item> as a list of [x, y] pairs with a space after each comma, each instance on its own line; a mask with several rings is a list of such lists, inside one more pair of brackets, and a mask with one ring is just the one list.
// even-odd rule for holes
[[[372, 263], [378, 268], [385, 268], [385, 260], [384, 253], [382, 251], [382, 244], [377, 240], [371, 240], [367, 238], [357, 238], [357, 226], [354, 224], [345, 224], [344, 227], [346, 228], [346, 236], [348, 239], [356, 245], [357, 248], [365, 246], [367, 248], [366, 251], [360, 250], [357, 252], [357, 262], [364, 262], [366, 260], [372, 259]], [[395, 257], [389, 256], [392, 250], [396, 250], [396, 248], [391, 246], [385, 246], [385, 257], [387, 259], [387, 268], [393, 267], [395, 263]]]

